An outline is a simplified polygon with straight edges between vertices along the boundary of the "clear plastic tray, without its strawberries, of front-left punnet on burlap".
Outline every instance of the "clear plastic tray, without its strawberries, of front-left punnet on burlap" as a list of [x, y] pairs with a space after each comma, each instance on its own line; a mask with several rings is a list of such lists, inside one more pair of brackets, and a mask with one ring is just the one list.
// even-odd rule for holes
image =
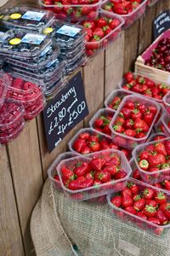
[[[127, 173], [126, 177], [117, 179], [117, 180], [112, 180], [111, 182], [102, 183], [98, 186], [92, 186], [92, 187], [89, 187], [86, 189], [71, 190], [71, 189], [67, 189], [65, 187], [65, 185], [62, 181], [62, 174], [60, 172], [60, 169], [62, 166], [66, 166], [66, 167], [75, 166], [77, 164], [77, 162], [80, 162], [81, 160], [83, 160], [85, 162], [89, 162], [94, 157], [99, 157], [99, 158], [105, 159], [105, 157], [114, 156], [115, 154], [121, 158], [121, 167]], [[127, 179], [128, 179], [128, 177], [130, 177], [132, 170], [127, 162], [125, 155], [121, 151], [118, 151], [116, 149], [108, 149], [108, 150], [96, 152], [94, 154], [91, 154], [88, 157], [79, 155], [76, 157], [72, 157], [71, 159], [68, 159], [68, 160], [61, 160], [59, 162], [59, 165], [57, 166], [57, 172], [59, 175], [59, 181], [61, 183], [61, 187], [64, 190], [65, 195], [68, 198], [70, 198], [71, 200], [85, 201], [85, 200], [89, 200], [89, 199], [99, 197], [102, 195], [110, 194], [113, 191], [116, 192], [116, 191], [120, 191], [120, 190], [124, 189], [127, 184]]]

